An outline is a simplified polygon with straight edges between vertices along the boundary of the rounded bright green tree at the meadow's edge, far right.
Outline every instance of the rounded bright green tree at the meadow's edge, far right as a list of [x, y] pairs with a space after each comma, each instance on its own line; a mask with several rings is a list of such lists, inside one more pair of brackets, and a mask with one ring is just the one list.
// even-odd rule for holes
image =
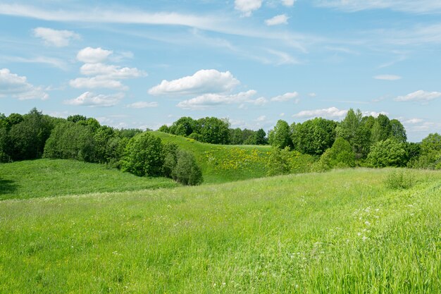
[[373, 167], [406, 166], [408, 154], [404, 143], [395, 139], [376, 142], [368, 154], [368, 163]]

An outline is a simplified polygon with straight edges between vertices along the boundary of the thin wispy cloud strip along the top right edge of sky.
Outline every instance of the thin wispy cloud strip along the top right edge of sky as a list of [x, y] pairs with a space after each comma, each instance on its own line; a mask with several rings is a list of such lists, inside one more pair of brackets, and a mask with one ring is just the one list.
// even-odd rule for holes
[[354, 12], [368, 9], [391, 9], [409, 13], [440, 13], [441, 2], [438, 0], [316, 0], [318, 6], [337, 8]]

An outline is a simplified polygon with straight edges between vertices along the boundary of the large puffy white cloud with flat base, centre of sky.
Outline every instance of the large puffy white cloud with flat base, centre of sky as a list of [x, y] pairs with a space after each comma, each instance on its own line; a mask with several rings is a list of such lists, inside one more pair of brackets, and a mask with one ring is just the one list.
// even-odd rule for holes
[[163, 80], [161, 84], [151, 87], [149, 94], [206, 94], [228, 92], [239, 85], [229, 71], [221, 73], [214, 69], [201, 70], [178, 80]]

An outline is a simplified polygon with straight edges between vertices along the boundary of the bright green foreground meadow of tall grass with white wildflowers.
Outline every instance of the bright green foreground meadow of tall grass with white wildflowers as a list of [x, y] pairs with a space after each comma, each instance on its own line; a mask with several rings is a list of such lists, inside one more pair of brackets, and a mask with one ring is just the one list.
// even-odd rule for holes
[[441, 173], [0, 202], [0, 293], [440, 293]]

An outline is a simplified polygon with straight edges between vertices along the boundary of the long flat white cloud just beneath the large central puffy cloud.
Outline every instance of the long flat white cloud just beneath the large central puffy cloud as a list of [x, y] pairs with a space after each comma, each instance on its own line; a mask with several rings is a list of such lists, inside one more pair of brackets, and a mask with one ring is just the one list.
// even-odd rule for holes
[[256, 94], [255, 90], [248, 90], [247, 92], [240, 92], [237, 94], [202, 94], [192, 99], [179, 102], [176, 106], [182, 109], [191, 110], [204, 110], [213, 106], [225, 105], [225, 104], [243, 104], [250, 103], [256, 105], [262, 105], [266, 103], [266, 99], [260, 97], [258, 99], [252, 99]]

